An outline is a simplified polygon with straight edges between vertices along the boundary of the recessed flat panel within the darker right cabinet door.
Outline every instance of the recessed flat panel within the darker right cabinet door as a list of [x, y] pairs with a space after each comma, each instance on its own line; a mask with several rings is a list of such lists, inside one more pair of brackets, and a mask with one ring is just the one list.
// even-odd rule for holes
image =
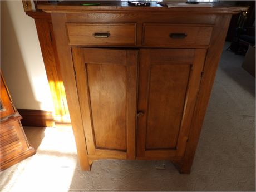
[[189, 73], [188, 64], [151, 66], [146, 150], [176, 147]]

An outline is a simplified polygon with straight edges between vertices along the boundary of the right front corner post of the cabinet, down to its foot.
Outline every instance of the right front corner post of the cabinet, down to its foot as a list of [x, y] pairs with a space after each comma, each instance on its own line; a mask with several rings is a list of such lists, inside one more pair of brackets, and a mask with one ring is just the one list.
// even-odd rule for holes
[[201, 126], [203, 125], [205, 112], [210, 99], [211, 88], [213, 87], [216, 70], [218, 68], [225, 36], [227, 35], [228, 26], [231, 16], [218, 16], [216, 25], [213, 30], [211, 45], [206, 56], [203, 78], [200, 83], [198, 98], [196, 100], [193, 121], [189, 134], [188, 144], [182, 161], [178, 163], [180, 173], [189, 174], [193, 164], [196, 146], [198, 145]]

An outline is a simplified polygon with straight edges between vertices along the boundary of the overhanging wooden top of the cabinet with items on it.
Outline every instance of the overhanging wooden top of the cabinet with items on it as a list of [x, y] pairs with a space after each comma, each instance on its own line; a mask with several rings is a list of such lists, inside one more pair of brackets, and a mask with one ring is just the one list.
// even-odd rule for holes
[[[222, 3], [209, 2], [210, 6], [198, 5], [181, 7], [178, 3], [185, 3], [185, 1], [164, 1], [171, 3], [174, 7], [164, 7], [157, 4], [156, 1], [150, 2], [150, 7], [129, 6], [128, 1], [61, 1], [58, 3], [41, 4], [38, 8], [48, 13], [87, 13], [87, 12], [166, 12], [166, 13], [229, 13], [235, 14], [241, 11], [246, 11], [248, 7], [244, 6], [230, 6]], [[87, 4], [84, 6], [82, 4]], [[94, 4], [88, 6], [88, 4]]]

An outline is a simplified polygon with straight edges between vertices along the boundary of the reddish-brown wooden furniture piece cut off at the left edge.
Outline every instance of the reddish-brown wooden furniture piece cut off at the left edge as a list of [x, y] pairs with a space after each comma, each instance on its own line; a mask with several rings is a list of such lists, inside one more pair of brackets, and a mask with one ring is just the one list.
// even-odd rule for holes
[[21, 125], [22, 117], [13, 105], [1, 73], [0, 96], [0, 170], [35, 154]]

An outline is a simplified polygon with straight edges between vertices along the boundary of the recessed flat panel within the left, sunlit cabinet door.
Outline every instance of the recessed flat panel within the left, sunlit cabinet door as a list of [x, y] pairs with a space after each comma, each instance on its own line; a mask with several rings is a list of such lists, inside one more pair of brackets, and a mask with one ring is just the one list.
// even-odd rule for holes
[[126, 66], [86, 65], [96, 147], [126, 151]]

